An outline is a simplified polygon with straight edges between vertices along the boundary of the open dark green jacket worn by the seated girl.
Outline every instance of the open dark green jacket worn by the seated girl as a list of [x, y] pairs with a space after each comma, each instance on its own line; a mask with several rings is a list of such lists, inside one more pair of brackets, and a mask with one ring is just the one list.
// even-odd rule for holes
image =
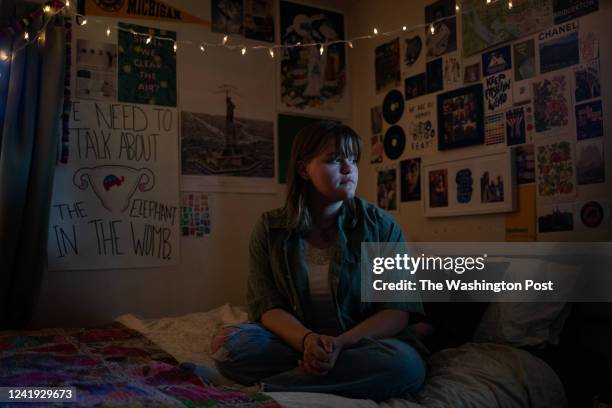
[[[351, 226], [347, 206], [338, 218], [337, 243], [330, 262], [329, 283], [338, 326], [349, 330], [382, 309], [424, 314], [420, 302], [361, 302], [361, 242], [404, 242], [397, 222], [385, 211], [355, 198], [357, 223]], [[311, 323], [304, 239], [288, 228], [283, 208], [264, 213], [251, 235], [247, 289], [249, 319], [273, 308], [284, 309], [305, 325]], [[412, 342], [411, 342], [412, 343]]]

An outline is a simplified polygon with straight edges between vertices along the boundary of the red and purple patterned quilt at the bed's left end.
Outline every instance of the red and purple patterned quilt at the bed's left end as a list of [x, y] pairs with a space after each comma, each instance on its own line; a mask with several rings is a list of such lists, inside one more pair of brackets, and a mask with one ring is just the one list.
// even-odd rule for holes
[[[65, 403], [70, 407], [279, 407], [264, 394], [204, 383], [155, 343], [116, 322], [93, 329], [0, 332], [0, 386], [76, 387], [77, 404]], [[14, 404], [28, 405], [40, 407]]]

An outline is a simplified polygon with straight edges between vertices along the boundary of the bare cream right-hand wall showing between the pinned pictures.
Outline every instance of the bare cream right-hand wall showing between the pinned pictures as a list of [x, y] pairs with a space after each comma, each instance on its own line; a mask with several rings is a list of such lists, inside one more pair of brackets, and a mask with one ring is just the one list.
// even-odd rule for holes
[[[501, 0], [500, 0], [501, 1]], [[484, 2], [484, 0], [483, 0]], [[392, 31], [406, 25], [413, 27], [425, 22], [424, 8], [433, 1], [397, 1], [397, 0], [361, 0], [356, 2], [348, 12], [349, 37], [370, 35], [374, 27], [380, 32]], [[599, 35], [601, 58], [601, 86], [604, 109], [604, 148], [605, 158], [612, 157], [612, 79], [605, 75], [612, 67], [612, 48], [607, 45], [607, 38], [612, 38], [612, 2], [600, 0], [600, 10], [579, 19], [581, 29], [588, 27]], [[457, 21], [458, 47], [461, 44], [461, 25]], [[388, 42], [396, 36], [375, 38], [361, 41], [351, 50], [353, 64], [350, 66], [350, 83], [352, 95], [352, 125], [364, 140], [366, 157], [360, 164], [360, 180], [358, 193], [369, 201], [376, 202], [377, 168], [396, 166], [399, 177], [399, 162], [406, 158], [418, 156], [404, 151], [398, 160], [383, 159], [381, 164], [370, 164], [370, 108], [381, 105], [386, 92], [376, 93], [374, 50], [376, 46]], [[537, 45], [536, 45], [537, 47]], [[356, 61], [359, 61], [356, 63]], [[570, 68], [571, 69], [571, 68]], [[418, 72], [413, 73], [416, 74]], [[401, 86], [397, 89], [404, 93], [404, 76]], [[444, 91], [442, 91], [444, 92]], [[418, 100], [418, 99], [417, 99]], [[407, 113], [404, 111], [399, 124], [404, 125]], [[386, 125], [383, 126], [383, 134]], [[404, 130], [406, 128], [404, 127]], [[537, 137], [534, 137], [534, 141]], [[575, 140], [575, 134], [574, 134]], [[423, 156], [423, 160], [432, 161], [454, 160], [469, 155], [480, 155], [487, 151], [486, 147], [465, 147]], [[608, 160], [609, 163], [609, 160]], [[607, 164], [607, 163], [606, 163]], [[612, 198], [612, 166], [606, 165], [606, 183], [578, 186], [578, 199], [581, 198]], [[421, 186], [423, 189], [423, 186]], [[423, 193], [423, 190], [422, 190]], [[399, 192], [398, 192], [399, 196]], [[399, 211], [393, 215], [401, 223], [404, 233], [410, 240], [416, 241], [505, 241], [505, 221], [503, 214], [472, 215], [442, 218], [425, 218], [422, 201], [399, 203]], [[540, 234], [541, 241], [609, 241], [612, 237], [612, 223], [606, 228], [595, 231], [574, 231], [567, 233]]]

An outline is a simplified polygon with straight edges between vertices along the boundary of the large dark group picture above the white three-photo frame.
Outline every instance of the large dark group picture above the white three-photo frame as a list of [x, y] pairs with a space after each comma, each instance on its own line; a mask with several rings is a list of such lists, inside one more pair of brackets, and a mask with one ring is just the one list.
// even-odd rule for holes
[[483, 143], [482, 84], [438, 95], [438, 150]]

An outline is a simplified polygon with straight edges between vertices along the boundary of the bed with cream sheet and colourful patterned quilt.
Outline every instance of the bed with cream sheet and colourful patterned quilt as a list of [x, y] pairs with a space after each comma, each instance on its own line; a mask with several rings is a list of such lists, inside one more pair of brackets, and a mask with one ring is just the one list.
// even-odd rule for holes
[[220, 374], [213, 384], [185, 368], [193, 367], [188, 362], [214, 372], [213, 332], [246, 318], [241, 308], [224, 305], [174, 318], [127, 314], [91, 329], [1, 332], [0, 386], [76, 387], [77, 406], [105, 407], [567, 406], [560, 381], [542, 360], [494, 343], [467, 343], [433, 354], [420, 392], [379, 404], [327, 394], [257, 393]]

